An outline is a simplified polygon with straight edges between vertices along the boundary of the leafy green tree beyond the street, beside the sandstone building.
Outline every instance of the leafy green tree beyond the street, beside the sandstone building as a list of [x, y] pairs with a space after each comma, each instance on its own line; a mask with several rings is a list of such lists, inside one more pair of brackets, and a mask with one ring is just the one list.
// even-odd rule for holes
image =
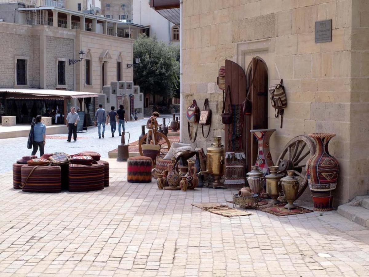
[[179, 47], [159, 42], [156, 37], [140, 35], [133, 45], [135, 65], [134, 81], [144, 93], [163, 96], [168, 100], [179, 97]]

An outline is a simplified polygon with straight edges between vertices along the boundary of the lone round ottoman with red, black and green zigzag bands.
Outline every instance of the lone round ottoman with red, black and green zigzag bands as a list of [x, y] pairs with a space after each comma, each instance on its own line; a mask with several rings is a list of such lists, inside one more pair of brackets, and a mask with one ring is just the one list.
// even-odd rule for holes
[[130, 183], [151, 182], [152, 160], [149, 157], [137, 156], [128, 158], [127, 181]]

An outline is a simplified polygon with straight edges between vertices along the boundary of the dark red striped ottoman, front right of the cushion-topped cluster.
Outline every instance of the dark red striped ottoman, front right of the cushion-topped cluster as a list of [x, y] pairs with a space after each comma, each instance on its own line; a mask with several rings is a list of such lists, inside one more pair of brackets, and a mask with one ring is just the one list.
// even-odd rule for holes
[[68, 177], [71, 192], [104, 189], [103, 164], [70, 164]]

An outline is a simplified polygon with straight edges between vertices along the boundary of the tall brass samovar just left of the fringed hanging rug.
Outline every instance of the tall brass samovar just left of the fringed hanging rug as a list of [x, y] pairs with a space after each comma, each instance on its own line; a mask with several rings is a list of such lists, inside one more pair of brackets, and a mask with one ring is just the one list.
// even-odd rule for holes
[[220, 182], [220, 178], [224, 175], [224, 146], [221, 143], [222, 137], [214, 137], [214, 142], [211, 147], [206, 149], [206, 167], [207, 170], [200, 172], [202, 174], [207, 172], [213, 175], [214, 181], [211, 183], [213, 188], [221, 187], [223, 184]]

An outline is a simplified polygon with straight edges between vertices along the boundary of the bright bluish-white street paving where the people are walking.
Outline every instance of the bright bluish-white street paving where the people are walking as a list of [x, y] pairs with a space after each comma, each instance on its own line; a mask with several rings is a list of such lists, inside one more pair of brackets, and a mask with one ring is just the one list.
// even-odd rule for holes
[[[131, 142], [138, 140], [141, 134], [141, 125], [146, 124], [147, 119], [130, 121], [125, 124], [125, 130], [131, 133]], [[159, 123], [161, 123], [161, 120], [159, 120]], [[85, 150], [93, 150], [100, 153], [101, 157], [108, 158], [108, 152], [117, 148], [121, 140], [118, 134], [118, 124], [114, 137], [111, 137], [110, 123], [105, 128], [105, 138], [99, 139], [97, 127], [89, 128], [87, 132], [77, 133], [77, 141], [73, 141], [72, 137], [72, 142], [69, 143], [66, 141], [67, 137], [68, 134], [46, 136], [45, 153], [65, 152], [76, 154]], [[12, 162], [15, 162], [22, 156], [31, 154], [32, 149], [27, 149], [27, 140], [28, 137], [0, 139], [0, 152], [7, 153], [7, 156], [11, 157], [11, 162], [7, 159], [0, 160], [0, 172], [10, 171], [12, 169]], [[39, 157], [39, 152], [36, 155]]]

